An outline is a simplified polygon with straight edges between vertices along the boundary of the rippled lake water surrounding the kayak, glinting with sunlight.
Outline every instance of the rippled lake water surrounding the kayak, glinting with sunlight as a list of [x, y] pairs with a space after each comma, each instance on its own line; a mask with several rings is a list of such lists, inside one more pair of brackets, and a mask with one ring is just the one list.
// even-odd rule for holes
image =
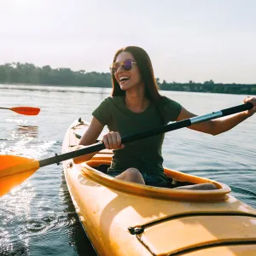
[[[68, 126], [90, 113], [110, 89], [0, 84], [4, 108], [41, 108], [38, 116], [0, 110], [0, 154], [44, 159], [61, 153]], [[245, 96], [161, 91], [199, 115], [230, 108]], [[226, 183], [241, 201], [256, 207], [256, 114], [212, 137], [189, 129], [166, 134], [165, 166]], [[0, 198], [1, 255], [95, 255], [74, 211], [62, 166], [38, 169]]]

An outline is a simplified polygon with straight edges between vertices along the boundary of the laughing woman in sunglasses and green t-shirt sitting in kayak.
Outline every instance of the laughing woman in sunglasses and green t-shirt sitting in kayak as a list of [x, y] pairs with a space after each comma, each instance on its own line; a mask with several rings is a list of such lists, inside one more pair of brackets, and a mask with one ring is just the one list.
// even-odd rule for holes
[[[108, 125], [110, 132], [102, 138], [106, 148], [113, 149], [113, 160], [108, 168], [108, 174], [129, 182], [168, 187], [161, 155], [164, 135], [148, 137], [125, 145], [121, 144], [121, 137], [154, 129], [170, 121], [189, 119], [195, 114], [190, 113], [179, 103], [160, 96], [151, 61], [142, 48], [128, 46], [119, 49], [114, 55], [110, 72], [113, 83], [112, 97], [106, 98], [92, 113], [90, 127], [79, 144], [95, 143], [104, 125]], [[252, 102], [253, 109], [230, 117], [191, 125], [189, 129], [212, 135], [229, 131], [255, 113], [256, 97], [247, 97], [244, 102]], [[90, 160], [94, 154], [96, 153], [87, 154], [84, 160]], [[216, 187], [212, 183], [204, 183], [177, 189], [216, 189]]]

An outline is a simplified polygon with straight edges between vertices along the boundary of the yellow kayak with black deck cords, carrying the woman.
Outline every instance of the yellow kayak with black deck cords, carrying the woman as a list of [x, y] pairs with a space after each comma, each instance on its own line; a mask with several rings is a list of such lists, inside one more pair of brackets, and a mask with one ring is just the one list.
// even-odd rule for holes
[[[74, 150], [88, 124], [67, 130], [62, 153]], [[256, 210], [230, 195], [230, 187], [165, 169], [189, 183], [216, 190], [164, 189], [128, 183], [105, 174], [112, 151], [90, 161], [63, 162], [67, 187], [90, 242], [99, 255], [256, 255]]]

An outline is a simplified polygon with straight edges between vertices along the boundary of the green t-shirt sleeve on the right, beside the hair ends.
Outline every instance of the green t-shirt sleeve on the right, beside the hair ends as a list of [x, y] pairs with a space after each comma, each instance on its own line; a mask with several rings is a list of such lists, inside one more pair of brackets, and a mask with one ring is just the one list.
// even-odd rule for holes
[[160, 111], [165, 117], [166, 123], [176, 121], [182, 108], [183, 107], [178, 102], [175, 102], [167, 97], [164, 97], [160, 103]]

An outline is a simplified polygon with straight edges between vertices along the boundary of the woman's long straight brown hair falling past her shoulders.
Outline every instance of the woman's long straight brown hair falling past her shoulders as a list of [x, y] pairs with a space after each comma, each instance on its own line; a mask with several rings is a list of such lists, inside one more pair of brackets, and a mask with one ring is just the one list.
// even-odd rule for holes
[[[151, 102], [158, 102], [162, 96], [160, 96], [160, 93], [158, 91], [158, 84], [156, 83], [156, 80], [154, 79], [154, 71], [152, 67], [152, 63], [150, 61], [150, 58], [147, 54], [147, 52], [137, 46], [127, 46], [124, 48], [119, 49], [116, 54], [113, 57], [113, 62], [116, 61], [117, 56], [121, 52], [129, 52], [133, 57], [135, 58], [135, 61], [137, 62], [137, 67], [139, 68], [139, 71], [141, 73], [143, 84], [145, 86], [145, 96], [151, 101]], [[115, 79], [114, 75], [112, 74], [112, 96], [125, 96], [125, 90], [121, 90], [118, 81]]]

